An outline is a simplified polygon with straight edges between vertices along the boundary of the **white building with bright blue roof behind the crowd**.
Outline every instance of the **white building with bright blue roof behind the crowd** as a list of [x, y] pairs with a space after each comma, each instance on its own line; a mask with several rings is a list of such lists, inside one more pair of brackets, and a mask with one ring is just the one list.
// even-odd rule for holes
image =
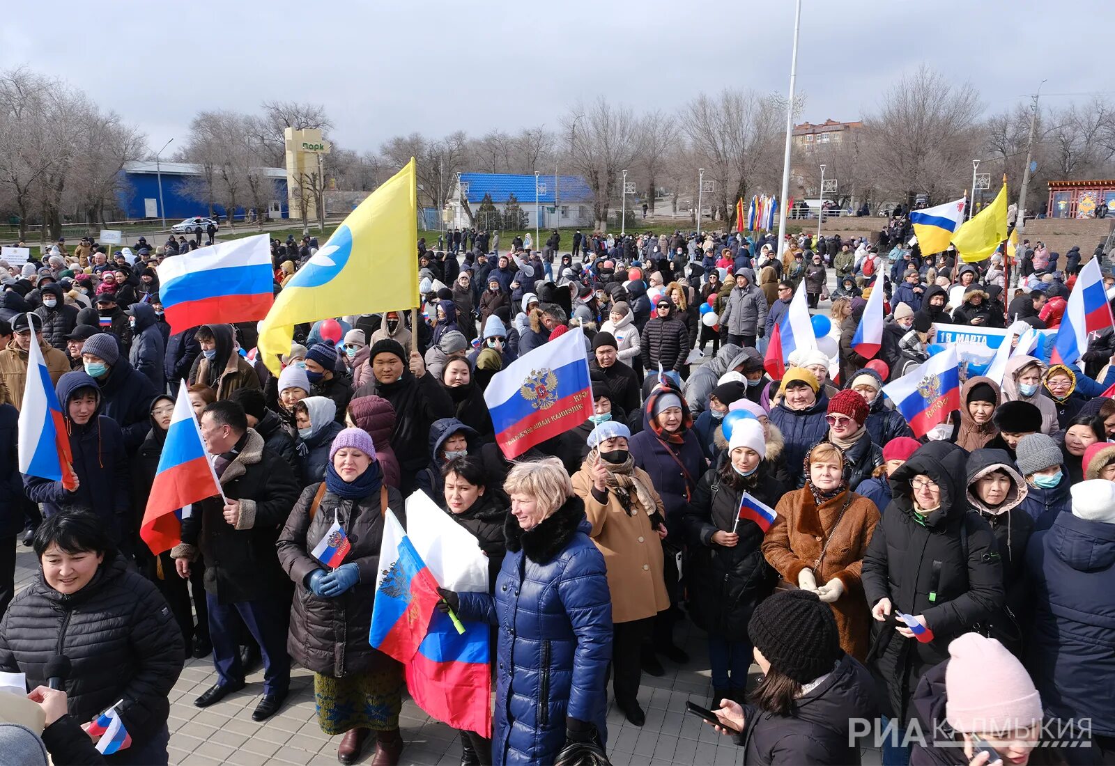
[[476, 209], [491, 195], [492, 204], [501, 213], [515, 195], [518, 206], [529, 216], [527, 227], [535, 225], [535, 195], [537, 198], [539, 228], [592, 226], [592, 189], [581, 176], [535, 176], [505, 173], [462, 173], [448, 200], [448, 226], [495, 228], [476, 216]]

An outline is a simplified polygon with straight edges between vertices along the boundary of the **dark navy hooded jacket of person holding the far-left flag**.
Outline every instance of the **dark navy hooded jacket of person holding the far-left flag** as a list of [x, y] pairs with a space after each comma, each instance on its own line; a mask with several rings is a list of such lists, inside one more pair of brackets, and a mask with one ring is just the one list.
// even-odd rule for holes
[[[78, 488], [70, 492], [60, 481], [23, 475], [23, 491], [31, 502], [42, 503], [47, 515], [62, 511], [93, 511], [104, 522], [113, 540], [130, 550], [133, 530], [128, 481], [128, 456], [124, 434], [115, 420], [104, 414], [104, 396], [97, 382], [84, 372], [68, 372], [55, 386], [62, 409], [62, 422], [74, 455], [74, 472]], [[78, 425], [69, 415], [69, 402], [76, 393], [93, 390], [97, 393], [97, 410], [85, 425]], [[148, 400], [147, 409], [151, 404]], [[146, 419], [145, 419], [146, 421]], [[149, 424], [146, 424], [149, 428]], [[143, 438], [140, 436], [140, 440]]]

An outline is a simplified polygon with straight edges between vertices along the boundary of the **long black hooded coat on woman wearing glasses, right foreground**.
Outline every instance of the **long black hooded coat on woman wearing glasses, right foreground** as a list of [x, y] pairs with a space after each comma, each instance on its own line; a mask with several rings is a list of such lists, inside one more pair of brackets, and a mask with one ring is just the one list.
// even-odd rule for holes
[[[890, 477], [893, 498], [871, 538], [863, 559], [867, 605], [891, 600], [885, 622], [873, 622], [873, 671], [888, 691], [884, 715], [905, 721], [906, 704], [918, 679], [948, 657], [957, 636], [990, 619], [1005, 601], [1002, 566], [987, 522], [964, 499], [968, 453], [947, 442], [921, 448]], [[941, 492], [940, 508], [915, 518], [910, 481], [932, 479]], [[934, 639], [921, 644], [903, 638], [896, 613], [924, 617]]]

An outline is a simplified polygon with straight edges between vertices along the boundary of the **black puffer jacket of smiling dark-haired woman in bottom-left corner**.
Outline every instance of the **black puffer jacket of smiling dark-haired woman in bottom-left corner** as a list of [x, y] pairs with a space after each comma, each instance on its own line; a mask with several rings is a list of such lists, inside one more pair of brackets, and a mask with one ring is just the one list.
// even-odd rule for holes
[[28, 688], [46, 685], [46, 664], [65, 655], [69, 713], [94, 720], [117, 709], [136, 743], [155, 735], [171, 713], [167, 695], [182, 672], [182, 630], [153, 583], [128, 571], [124, 557], [101, 563], [71, 596], [48, 586], [42, 571], [0, 621], [0, 670], [26, 672]]

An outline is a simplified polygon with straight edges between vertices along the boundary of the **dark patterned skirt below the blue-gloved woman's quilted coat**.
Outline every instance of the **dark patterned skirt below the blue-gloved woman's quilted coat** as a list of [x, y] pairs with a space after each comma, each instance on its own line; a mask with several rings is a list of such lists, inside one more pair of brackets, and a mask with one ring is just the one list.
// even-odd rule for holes
[[390, 731], [399, 727], [403, 678], [398, 665], [345, 678], [313, 674], [318, 725], [332, 736], [355, 728]]

